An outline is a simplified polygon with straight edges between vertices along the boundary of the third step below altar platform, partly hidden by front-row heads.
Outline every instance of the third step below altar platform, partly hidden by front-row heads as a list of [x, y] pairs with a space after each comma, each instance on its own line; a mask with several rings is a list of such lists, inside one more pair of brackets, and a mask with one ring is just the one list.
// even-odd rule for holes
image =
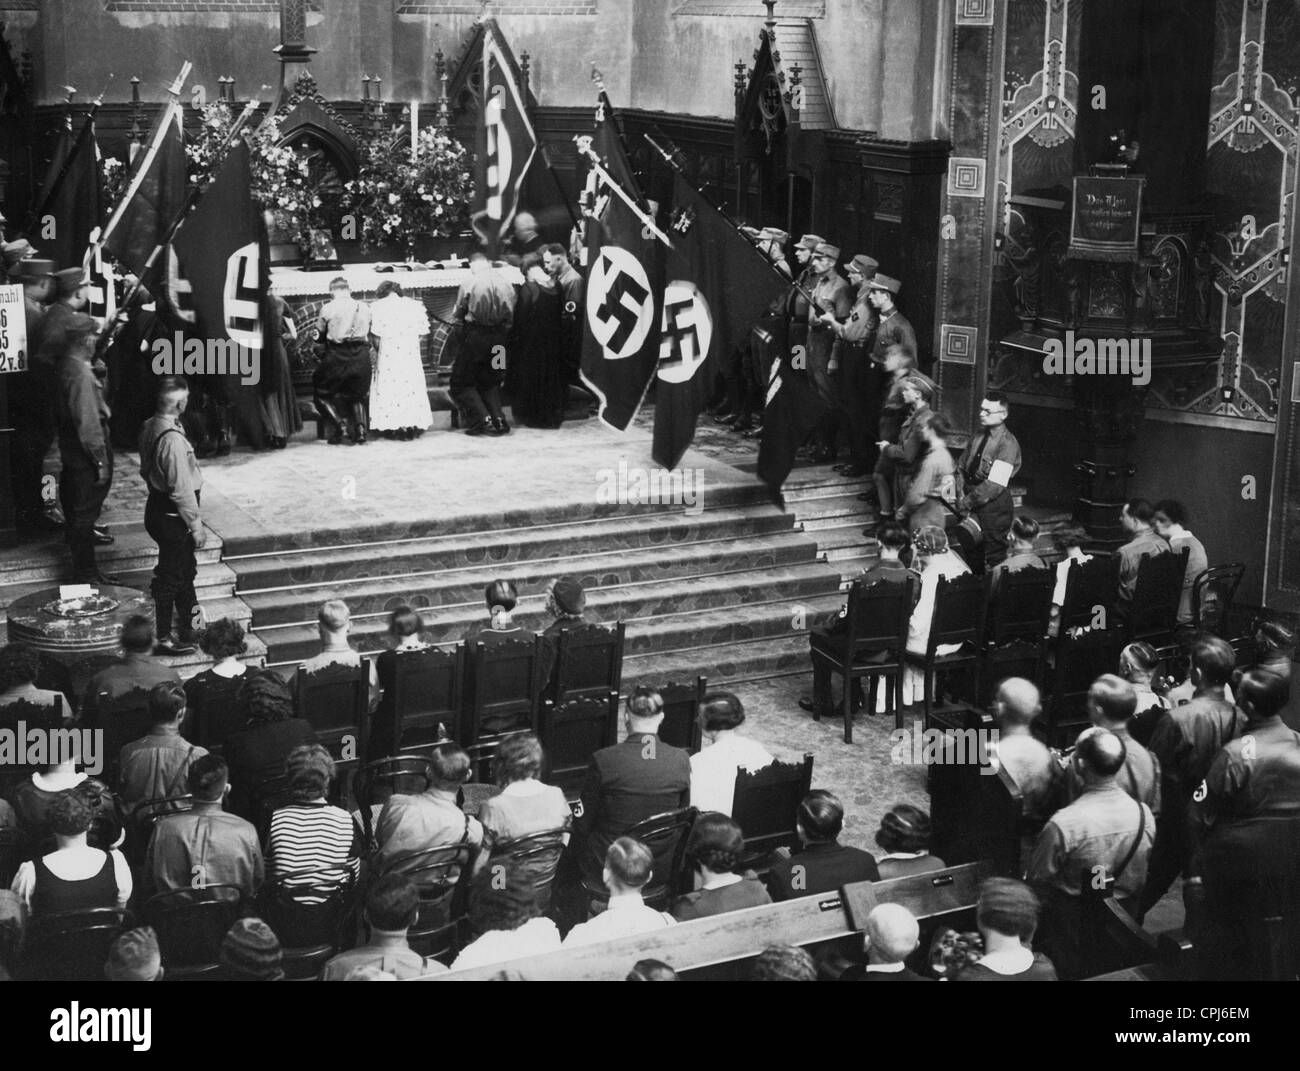
[[[592, 620], [624, 621], [629, 651], [686, 650], [701, 643], [729, 643], [790, 632], [801, 620], [838, 606], [840, 577], [823, 563], [775, 567], [763, 572], [688, 577], [670, 582], [621, 585], [588, 593]], [[482, 604], [442, 607], [425, 613], [430, 642], [464, 637], [484, 617]], [[550, 621], [542, 595], [520, 599], [515, 620], [541, 630]], [[384, 650], [387, 616], [352, 619], [352, 643], [363, 652]], [[316, 628], [307, 624], [260, 628], [276, 664], [298, 663], [318, 650]]]

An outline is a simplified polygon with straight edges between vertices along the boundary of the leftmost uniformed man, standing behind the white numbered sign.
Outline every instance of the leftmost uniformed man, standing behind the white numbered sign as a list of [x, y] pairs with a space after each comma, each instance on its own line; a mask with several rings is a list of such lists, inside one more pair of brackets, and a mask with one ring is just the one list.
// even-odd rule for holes
[[58, 437], [55, 425], [53, 367], [38, 361], [42, 325], [47, 303], [55, 290], [52, 260], [29, 257], [9, 269], [9, 281], [22, 283], [23, 315], [27, 324], [27, 370], [9, 377], [9, 417], [13, 438], [13, 495], [18, 525], [38, 530], [57, 530], [62, 511], [53, 494], [42, 494], [43, 477], [58, 482]]

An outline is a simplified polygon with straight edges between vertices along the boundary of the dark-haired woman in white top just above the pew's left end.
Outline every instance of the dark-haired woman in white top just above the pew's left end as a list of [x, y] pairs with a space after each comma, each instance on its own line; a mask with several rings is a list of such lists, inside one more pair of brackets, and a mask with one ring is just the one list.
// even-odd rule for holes
[[532, 879], [512, 863], [480, 871], [474, 877], [469, 929], [474, 940], [462, 949], [451, 964], [454, 971], [541, 955], [560, 946], [559, 928], [542, 916]]

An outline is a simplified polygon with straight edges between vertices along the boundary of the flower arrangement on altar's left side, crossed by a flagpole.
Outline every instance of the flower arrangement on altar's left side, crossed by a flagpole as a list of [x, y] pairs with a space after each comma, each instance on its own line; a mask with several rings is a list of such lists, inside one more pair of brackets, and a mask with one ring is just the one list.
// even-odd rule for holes
[[[203, 109], [198, 134], [185, 151], [190, 157], [190, 181], [200, 190], [221, 168], [222, 146], [230, 136], [235, 116], [224, 100], [214, 100]], [[311, 230], [322, 225], [321, 198], [308, 160], [289, 146], [277, 144], [280, 123], [276, 120], [254, 120], [239, 131], [250, 149], [252, 165], [252, 198], [274, 217], [277, 231], [296, 242], [299, 248], [311, 244]]]

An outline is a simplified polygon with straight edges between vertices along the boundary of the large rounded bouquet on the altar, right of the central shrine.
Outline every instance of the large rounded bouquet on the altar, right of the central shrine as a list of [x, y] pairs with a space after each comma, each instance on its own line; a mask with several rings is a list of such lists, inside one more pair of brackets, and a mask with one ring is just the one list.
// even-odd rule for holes
[[455, 138], [425, 127], [412, 160], [406, 131], [396, 129], [364, 147], [360, 174], [346, 188], [365, 252], [394, 242], [413, 247], [421, 237], [448, 238], [469, 225], [471, 156]]

